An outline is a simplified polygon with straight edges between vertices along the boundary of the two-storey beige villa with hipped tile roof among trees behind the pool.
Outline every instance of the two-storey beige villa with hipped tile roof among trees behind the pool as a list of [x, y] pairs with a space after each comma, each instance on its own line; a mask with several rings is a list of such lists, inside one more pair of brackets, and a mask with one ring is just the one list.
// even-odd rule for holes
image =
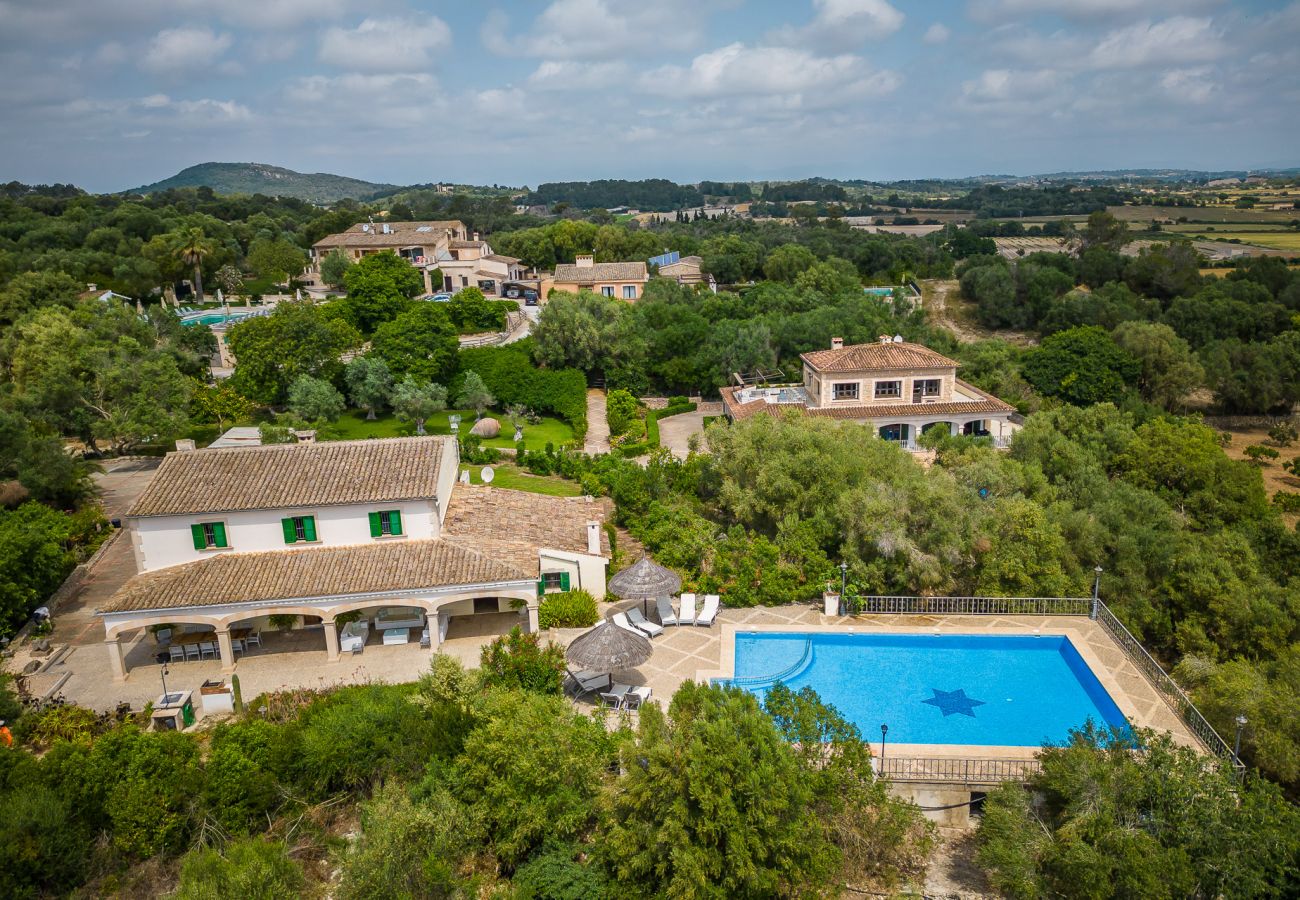
[[930, 347], [883, 336], [876, 343], [802, 354], [802, 384], [722, 389], [732, 420], [797, 410], [806, 415], [870, 424], [907, 450], [931, 428], [992, 438], [1006, 446], [1019, 425], [1015, 407], [957, 377], [958, 363]]

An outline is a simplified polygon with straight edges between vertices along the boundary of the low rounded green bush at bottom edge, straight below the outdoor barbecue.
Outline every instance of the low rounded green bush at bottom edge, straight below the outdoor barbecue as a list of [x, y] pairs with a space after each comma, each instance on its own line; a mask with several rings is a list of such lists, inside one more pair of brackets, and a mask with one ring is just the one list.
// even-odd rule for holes
[[302, 895], [303, 867], [285, 845], [260, 838], [234, 840], [221, 851], [196, 848], [181, 861], [179, 900], [278, 900]]

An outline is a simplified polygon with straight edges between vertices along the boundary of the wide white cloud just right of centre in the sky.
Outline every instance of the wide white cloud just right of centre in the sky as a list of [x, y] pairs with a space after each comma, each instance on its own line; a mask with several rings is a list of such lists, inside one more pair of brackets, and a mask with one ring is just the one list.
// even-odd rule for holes
[[653, 94], [688, 98], [762, 96], [785, 105], [822, 105], [845, 95], [888, 94], [901, 79], [872, 72], [861, 56], [815, 56], [790, 47], [728, 44], [689, 66], [667, 65], [641, 77]]

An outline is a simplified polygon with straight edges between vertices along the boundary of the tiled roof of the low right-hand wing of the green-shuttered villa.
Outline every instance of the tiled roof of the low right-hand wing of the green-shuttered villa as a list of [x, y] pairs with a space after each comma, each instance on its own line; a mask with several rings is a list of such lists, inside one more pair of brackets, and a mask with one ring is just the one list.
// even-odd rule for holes
[[[530, 558], [537, 567], [540, 549], [586, 553], [586, 523], [603, 523], [607, 501], [592, 497], [547, 497], [523, 490], [458, 484], [451, 492], [446, 540], [490, 555]], [[601, 555], [610, 555], [610, 538], [601, 529]]]

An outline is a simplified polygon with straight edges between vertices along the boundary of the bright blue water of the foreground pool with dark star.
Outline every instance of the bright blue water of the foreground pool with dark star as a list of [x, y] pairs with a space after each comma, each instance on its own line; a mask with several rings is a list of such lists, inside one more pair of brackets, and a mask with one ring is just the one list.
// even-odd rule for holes
[[1126, 727], [1110, 695], [1061, 636], [736, 635], [732, 682], [763, 696], [811, 687], [867, 740], [1040, 747], [1089, 718]]

